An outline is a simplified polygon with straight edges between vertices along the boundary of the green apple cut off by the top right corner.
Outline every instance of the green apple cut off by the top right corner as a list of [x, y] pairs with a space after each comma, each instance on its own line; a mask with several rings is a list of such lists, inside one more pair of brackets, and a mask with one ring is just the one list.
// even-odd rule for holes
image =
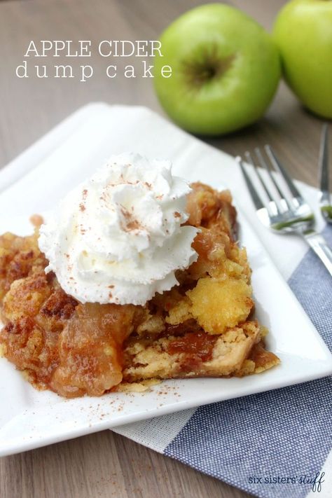
[[274, 37], [289, 86], [308, 109], [332, 118], [332, 0], [289, 2]]

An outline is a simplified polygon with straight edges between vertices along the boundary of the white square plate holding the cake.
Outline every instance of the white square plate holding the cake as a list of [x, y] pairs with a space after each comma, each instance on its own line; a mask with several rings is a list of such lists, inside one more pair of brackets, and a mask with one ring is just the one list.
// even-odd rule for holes
[[[20, 165], [25, 161], [27, 170], [33, 153], [37, 167], [19, 181], [15, 179], [13, 185], [1, 193], [0, 233], [5, 230], [22, 235], [29, 233], [29, 214], [46, 212], [53, 207], [69, 188], [114, 152], [135, 150], [170, 158], [174, 160], [176, 174], [189, 181], [206, 181], [216, 188], [234, 181], [227, 181], [230, 172], [235, 172], [232, 158], [188, 137], [151, 111], [100, 104], [98, 112], [93, 106], [89, 112], [90, 119], [86, 119], [86, 111], [83, 123], [76, 125], [69, 136], [67, 127], [66, 140], [61, 144], [58, 128], [56, 145], [51, 134], [41, 143], [42, 155], [38, 155], [39, 148], [34, 147], [20, 157]], [[48, 153], [45, 153], [46, 144]], [[177, 160], [179, 157], [181, 160]], [[221, 162], [223, 170], [217, 167]], [[8, 168], [7, 173], [11, 170], [15, 176], [14, 167]], [[8, 175], [6, 182], [8, 184]], [[247, 219], [239, 213], [239, 220], [242, 244], [247, 247], [253, 269], [256, 316], [270, 330], [268, 348], [280, 357], [280, 366], [242, 379], [174, 380], [162, 382], [142, 394], [106, 394], [101, 398], [67, 400], [52, 392], [37, 392], [13, 365], [0, 359], [0, 456], [332, 373], [332, 357], [319, 333]]]

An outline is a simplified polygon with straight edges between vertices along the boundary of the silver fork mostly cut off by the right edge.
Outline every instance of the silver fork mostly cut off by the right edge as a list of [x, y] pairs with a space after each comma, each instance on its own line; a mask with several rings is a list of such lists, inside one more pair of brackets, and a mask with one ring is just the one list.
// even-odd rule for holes
[[319, 206], [321, 214], [328, 223], [332, 223], [332, 200], [328, 188], [328, 125], [324, 123], [321, 131], [321, 147], [319, 151]]

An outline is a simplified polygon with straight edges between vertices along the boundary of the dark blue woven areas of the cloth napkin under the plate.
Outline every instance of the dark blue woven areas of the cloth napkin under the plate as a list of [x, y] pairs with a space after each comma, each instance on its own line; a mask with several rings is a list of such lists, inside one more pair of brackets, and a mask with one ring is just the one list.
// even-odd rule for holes
[[[332, 245], [331, 227], [324, 236]], [[312, 251], [289, 285], [332, 349], [332, 281]], [[303, 480], [321, 471], [331, 450], [332, 380], [324, 378], [202, 406], [165, 455], [258, 497], [302, 498], [312, 490]]]

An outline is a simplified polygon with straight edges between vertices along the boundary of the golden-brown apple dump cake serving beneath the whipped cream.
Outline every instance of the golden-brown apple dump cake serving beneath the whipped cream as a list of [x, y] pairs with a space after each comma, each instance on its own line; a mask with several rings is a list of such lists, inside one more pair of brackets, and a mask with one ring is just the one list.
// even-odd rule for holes
[[[88, 189], [83, 188], [83, 198], [91, 195], [90, 191], [84, 193], [85, 190]], [[134, 283], [128, 284], [137, 287], [132, 291], [134, 304], [123, 303], [126, 298], [118, 275], [112, 276], [113, 283], [106, 282], [109, 302], [105, 302], [107, 296], [100, 290], [105, 288], [104, 273], [95, 289], [98, 301], [91, 302], [93, 296], [87, 296], [91, 291], [89, 279], [85, 280], [86, 285], [81, 284], [80, 291], [78, 276], [71, 271], [72, 254], [65, 253], [71, 261], [67, 278], [75, 282], [73, 292], [69, 293], [71, 281], [66, 284], [65, 272], [55, 271], [58, 265], [54, 263], [54, 254], [50, 256], [54, 259], [52, 266], [41, 251], [40, 247], [47, 246], [45, 240], [41, 242], [47, 235], [43, 226], [36, 227], [34, 235], [28, 237], [11, 233], [0, 237], [0, 301], [4, 323], [0, 347], [4, 357], [23, 371], [35, 387], [51, 389], [66, 397], [99, 396], [123, 389], [127, 383], [243, 376], [260, 373], [279, 363], [275, 354], [265, 350], [265, 328], [252, 317], [251, 270], [245, 249], [240, 249], [235, 240], [236, 212], [230, 193], [196, 183], [185, 198], [188, 215], [181, 220], [181, 228], [195, 228], [191, 232], [195, 256], [187, 255], [190, 263], [187, 268], [184, 263], [177, 265], [176, 284], [171, 282], [169, 290], [152, 289], [153, 296], [144, 296], [144, 303], [139, 303], [145, 291], [140, 288], [141, 283], [137, 284], [136, 277], [132, 278]], [[81, 213], [85, 209], [88, 205], [82, 200]], [[130, 217], [123, 202], [120, 209], [125, 233], [132, 230], [138, 233], [139, 216]], [[139, 212], [137, 206], [135, 209]], [[177, 219], [182, 214], [175, 211], [173, 216]], [[76, 223], [75, 227], [83, 230], [80, 235], [83, 244], [88, 226], [82, 228]], [[44, 235], [40, 236], [43, 230]], [[64, 240], [66, 237], [63, 243]], [[64, 248], [63, 244], [61, 247]], [[66, 246], [64, 250], [70, 249]], [[46, 252], [50, 254], [47, 249]], [[181, 259], [181, 254], [178, 256]], [[80, 260], [79, 268], [88, 272], [97, 268], [93, 270], [96, 273], [104, 268], [101, 266], [104, 263], [95, 262], [95, 256], [90, 267], [85, 261], [87, 257], [80, 253], [83, 261]], [[144, 273], [148, 270], [144, 269]], [[130, 272], [130, 268], [124, 271]], [[160, 274], [161, 279], [164, 285], [164, 274]], [[76, 291], [81, 292], [79, 299], [77, 293], [74, 295]], [[125, 296], [129, 294], [126, 290]]]

